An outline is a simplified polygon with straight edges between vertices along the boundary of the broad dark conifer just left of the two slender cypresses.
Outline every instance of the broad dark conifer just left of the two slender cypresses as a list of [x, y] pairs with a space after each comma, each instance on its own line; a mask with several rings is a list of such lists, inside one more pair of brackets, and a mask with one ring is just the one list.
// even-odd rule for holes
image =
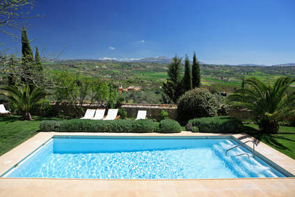
[[[166, 97], [174, 103], [177, 102], [180, 95], [183, 93], [182, 89], [182, 75], [181, 75], [182, 58], [175, 56], [173, 62], [168, 67], [168, 79], [163, 83], [163, 91]], [[164, 96], [165, 96], [164, 95]]]

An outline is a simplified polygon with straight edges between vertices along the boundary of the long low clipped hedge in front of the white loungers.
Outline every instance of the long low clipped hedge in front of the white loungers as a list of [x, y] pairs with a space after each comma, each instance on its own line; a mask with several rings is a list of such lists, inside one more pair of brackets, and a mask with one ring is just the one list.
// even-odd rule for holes
[[180, 125], [175, 120], [44, 120], [40, 123], [42, 132], [180, 132]]

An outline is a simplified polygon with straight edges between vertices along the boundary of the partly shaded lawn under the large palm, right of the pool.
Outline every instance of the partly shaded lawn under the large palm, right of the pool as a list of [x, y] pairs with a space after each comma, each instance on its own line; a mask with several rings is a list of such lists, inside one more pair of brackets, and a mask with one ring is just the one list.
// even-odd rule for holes
[[279, 134], [262, 134], [257, 130], [258, 125], [246, 126], [248, 127], [247, 134], [295, 159], [295, 127], [280, 126]]

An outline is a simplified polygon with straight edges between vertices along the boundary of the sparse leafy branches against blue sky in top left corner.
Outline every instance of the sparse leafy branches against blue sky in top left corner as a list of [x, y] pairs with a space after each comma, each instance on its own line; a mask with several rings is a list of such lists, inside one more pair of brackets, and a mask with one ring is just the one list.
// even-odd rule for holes
[[39, 15], [31, 16], [33, 6], [35, 6], [33, 0], [1, 0], [0, 31], [10, 37], [17, 38], [10, 32], [10, 29], [19, 29], [27, 19], [40, 17]]

